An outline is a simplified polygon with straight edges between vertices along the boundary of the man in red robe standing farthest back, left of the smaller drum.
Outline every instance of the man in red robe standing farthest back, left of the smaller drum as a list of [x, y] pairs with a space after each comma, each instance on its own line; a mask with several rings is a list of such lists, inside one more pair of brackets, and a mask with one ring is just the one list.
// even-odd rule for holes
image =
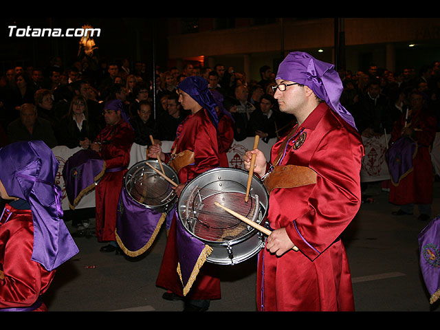
[[104, 104], [104, 120], [107, 126], [90, 146], [105, 161], [105, 174], [95, 188], [96, 236], [98, 242], [109, 243], [100, 248], [101, 252], [118, 253], [115, 241], [118, 201], [124, 174], [130, 163], [130, 149], [135, 133], [126, 120], [121, 100], [111, 100]]

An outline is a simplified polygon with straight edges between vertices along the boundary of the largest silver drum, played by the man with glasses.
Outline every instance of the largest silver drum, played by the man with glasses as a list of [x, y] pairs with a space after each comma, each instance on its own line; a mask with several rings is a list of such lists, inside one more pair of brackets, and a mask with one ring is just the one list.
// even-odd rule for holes
[[192, 236], [212, 248], [206, 261], [236, 265], [250, 259], [264, 246], [259, 230], [232, 216], [218, 202], [248, 219], [263, 224], [269, 195], [260, 179], [252, 177], [245, 201], [249, 173], [238, 168], [214, 168], [192, 179], [177, 202], [179, 221]]

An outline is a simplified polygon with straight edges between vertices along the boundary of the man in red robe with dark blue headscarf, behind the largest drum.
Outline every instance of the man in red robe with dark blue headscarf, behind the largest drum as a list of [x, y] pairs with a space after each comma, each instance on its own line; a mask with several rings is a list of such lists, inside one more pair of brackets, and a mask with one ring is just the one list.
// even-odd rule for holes
[[[190, 110], [191, 114], [177, 128], [177, 137], [171, 150], [175, 155], [192, 152], [193, 155], [182, 168], [176, 168], [179, 176], [179, 186], [175, 188], [177, 196], [189, 181], [212, 168], [219, 166], [219, 151], [217, 142], [217, 113], [215, 102], [208, 89], [208, 81], [199, 76], [191, 76], [178, 85], [179, 102], [181, 106]], [[148, 157], [160, 155], [162, 161], [168, 162], [170, 155], [161, 151], [159, 144], [153, 145]], [[176, 216], [170, 225], [164, 258], [157, 276], [156, 285], [168, 290], [164, 298], [168, 300], [183, 299], [183, 285], [177, 273], [177, 225]], [[190, 292], [186, 294], [184, 311], [206, 311], [210, 300], [220, 299], [220, 279], [212, 274], [210, 265], [203, 265]]]

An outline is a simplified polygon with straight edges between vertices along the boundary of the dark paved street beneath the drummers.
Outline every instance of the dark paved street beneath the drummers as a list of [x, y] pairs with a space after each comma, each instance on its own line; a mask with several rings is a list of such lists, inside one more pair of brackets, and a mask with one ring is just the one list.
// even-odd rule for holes
[[[417, 235], [428, 224], [414, 216], [393, 216], [396, 206], [380, 184], [370, 184], [363, 203], [342, 237], [349, 255], [357, 311], [438, 311], [430, 306], [419, 271]], [[440, 214], [440, 183], [434, 184], [432, 214]], [[69, 225], [69, 223], [68, 223]], [[162, 299], [155, 280], [166, 243], [161, 230], [142, 256], [99, 252], [94, 236], [76, 237], [79, 254], [58, 268], [44, 300], [50, 311], [181, 311], [181, 302]], [[209, 311], [256, 311], [256, 257], [235, 266], [217, 266], [221, 300]]]

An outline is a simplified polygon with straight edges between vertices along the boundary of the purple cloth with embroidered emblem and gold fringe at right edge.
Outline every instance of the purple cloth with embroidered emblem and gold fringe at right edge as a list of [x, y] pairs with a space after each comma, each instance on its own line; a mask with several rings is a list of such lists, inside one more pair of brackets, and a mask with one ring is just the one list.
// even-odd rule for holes
[[430, 304], [440, 297], [440, 216], [419, 234], [420, 270], [430, 293]]

